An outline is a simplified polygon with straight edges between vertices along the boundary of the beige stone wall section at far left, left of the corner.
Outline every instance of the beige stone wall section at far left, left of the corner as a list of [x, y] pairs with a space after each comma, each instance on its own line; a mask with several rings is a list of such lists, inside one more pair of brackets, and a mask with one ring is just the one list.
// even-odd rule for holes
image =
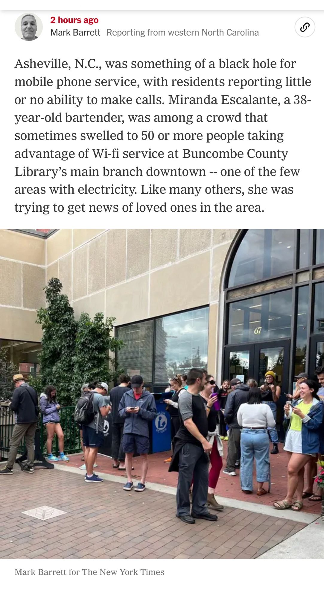
[[0, 338], [40, 341], [36, 310], [45, 305], [45, 240], [0, 229]]

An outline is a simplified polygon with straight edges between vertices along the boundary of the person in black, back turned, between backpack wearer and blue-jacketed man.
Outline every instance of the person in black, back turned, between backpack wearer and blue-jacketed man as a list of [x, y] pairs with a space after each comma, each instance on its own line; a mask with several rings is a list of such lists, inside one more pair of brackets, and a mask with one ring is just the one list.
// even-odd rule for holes
[[120, 384], [110, 392], [111, 412], [112, 412], [112, 441], [111, 454], [114, 460], [113, 468], [118, 470], [126, 470], [125, 468], [125, 453], [123, 451], [123, 431], [125, 420], [118, 415], [118, 407], [124, 393], [129, 388], [130, 377], [128, 374], [121, 374], [119, 378]]

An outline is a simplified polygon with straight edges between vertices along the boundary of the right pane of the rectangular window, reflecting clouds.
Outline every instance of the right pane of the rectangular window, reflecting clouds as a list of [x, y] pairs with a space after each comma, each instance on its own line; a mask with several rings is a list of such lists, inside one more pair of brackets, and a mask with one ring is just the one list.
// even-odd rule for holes
[[189, 368], [207, 367], [209, 308], [172, 314], [156, 320], [155, 383]]

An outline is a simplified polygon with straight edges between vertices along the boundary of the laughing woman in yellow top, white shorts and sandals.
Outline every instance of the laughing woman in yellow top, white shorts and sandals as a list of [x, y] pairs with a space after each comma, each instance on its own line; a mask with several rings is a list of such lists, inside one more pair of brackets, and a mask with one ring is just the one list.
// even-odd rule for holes
[[[283, 447], [289, 455], [288, 489], [283, 501], [274, 502], [277, 510], [291, 508], [299, 512], [302, 509], [305, 464], [323, 447], [323, 402], [316, 395], [317, 388], [313, 380], [301, 383], [300, 399], [284, 407], [285, 419], [290, 420]], [[297, 501], [294, 501], [295, 493]]]

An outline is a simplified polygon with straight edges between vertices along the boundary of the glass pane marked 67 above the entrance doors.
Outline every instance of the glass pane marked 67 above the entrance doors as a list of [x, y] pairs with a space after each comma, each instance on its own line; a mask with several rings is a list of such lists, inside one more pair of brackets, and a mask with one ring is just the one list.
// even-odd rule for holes
[[290, 337], [292, 289], [230, 304], [228, 343]]

